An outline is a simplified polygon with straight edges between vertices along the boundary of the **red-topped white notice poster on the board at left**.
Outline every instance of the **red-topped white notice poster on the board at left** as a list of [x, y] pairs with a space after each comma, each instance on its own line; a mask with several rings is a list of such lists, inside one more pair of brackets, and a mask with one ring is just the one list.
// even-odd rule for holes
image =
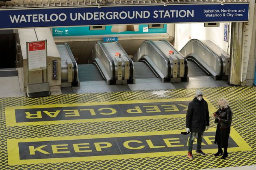
[[28, 42], [28, 70], [46, 69], [46, 41]]

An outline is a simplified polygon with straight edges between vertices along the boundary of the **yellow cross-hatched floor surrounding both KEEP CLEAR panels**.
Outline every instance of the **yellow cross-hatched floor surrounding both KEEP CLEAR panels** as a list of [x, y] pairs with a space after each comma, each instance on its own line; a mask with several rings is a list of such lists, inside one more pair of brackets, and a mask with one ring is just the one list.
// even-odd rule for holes
[[[213, 153], [194, 155], [193, 161], [187, 158], [187, 154], [175, 156], [152, 156], [135, 157], [129, 159], [109, 159], [95, 161], [56, 162], [35, 164], [9, 165], [7, 139], [20, 138], [43, 138], [43, 137], [63, 137], [80, 135], [100, 135], [135, 132], [155, 132], [166, 130], [182, 130], [185, 128], [185, 117], [157, 118], [142, 120], [122, 120], [122, 121], [101, 121], [101, 122], [81, 122], [81, 123], [59, 123], [48, 125], [23, 125], [6, 126], [5, 107], [11, 106], [31, 106], [47, 104], [74, 104], [93, 102], [116, 102], [128, 100], [159, 100], [171, 98], [187, 98], [195, 95], [196, 89], [167, 89], [148, 91], [120, 91], [91, 94], [64, 94], [52, 95], [45, 98], [10, 97], [0, 98], [0, 169], [177, 169], [177, 170], [197, 170], [209, 168], [226, 168], [234, 166], [256, 165], [256, 88], [245, 87], [211, 87], [201, 88], [204, 98], [217, 110], [217, 101], [226, 98], [230, 102], [233, 110], [232, 127], [252, 148], [251, 151], [232, 151], [228, 149], [228, 158], [219, 159]], [[160, 94], [160, 95], [158, 95]], [[214, 109], [214, 111], [215, 111]], [[211, 115], [211, 113], [210, 113]], [[214, 118], [210, 117], [210, 127], [216, 128]], [[204, 146], [203, 146], [204, 147]], [[193, 153], [194, 153], [193, 148]], [[204, 149], [204, 148], [202, 148]], [[204, 151], [204, 150], [203, 150]]]

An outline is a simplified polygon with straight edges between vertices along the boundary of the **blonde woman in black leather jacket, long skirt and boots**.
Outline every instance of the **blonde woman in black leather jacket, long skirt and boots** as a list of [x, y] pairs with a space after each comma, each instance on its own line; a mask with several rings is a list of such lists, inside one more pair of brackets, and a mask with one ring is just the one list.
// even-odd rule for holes
[[218, 152], [214, 155], [222, 155], [222, 148], [224, 148], [221, 159], [225, 159], [228, 157], [228, 137], [230, 134], [230, 125], [233, 113], [230, 106], [228, 106], [228, 101], [226, 99], [223, 98], [219, 100], [218, 104], [219, 109], [213, 113], [213, 116], [215, 117], [214, 123], [218, 123], [214, 141], [214, 143], [218, 144]]

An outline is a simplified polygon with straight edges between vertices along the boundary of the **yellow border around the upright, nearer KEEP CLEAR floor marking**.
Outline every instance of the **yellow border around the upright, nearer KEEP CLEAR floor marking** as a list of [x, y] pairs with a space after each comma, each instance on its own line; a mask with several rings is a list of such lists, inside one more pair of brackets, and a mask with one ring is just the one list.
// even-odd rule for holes
[[[87, 157], [62, 157], [62, 158], [48, 158], [48, 159], [20, 159], [18, 148], [19, 142], [42, 142], [42, 141], [61, 141], [61, 140], [78, 140], [78, 139], [98, 139], [98, 138], [118, 138], [118, 137], [133, 137], [133, 136], [150, 136], [150, 135], [166, 135], [166, 134], [180, 134], [184, 130], [169, 130], [159, 132], [134, 132], [134, 133], [120, 133], [120, 134], [98, 134], [87, 136], [63, 136], [63, 137], [48, 137], [48, 138], [24, 138], [24, 139], [7, 139], [8, 162], [9, 165], [17, 164], [37, 164], [40, 163], [57, 163], [57, 162], [72, 162], [72, 161], [95, 161], [95, 160], [109, 160], [109, 159], [130, 159], [139, 157], [161, 157], [186, 155], [186, 151], [169, 151], [169, 152], [152, 152], [152, 153], [135, 153], [124, 155], [102, 155], [102, 156], [87, 156]], [[216, 128], [209, 128], [206, 132], [215, 132]], [[188, 136], [189, 137], [189, 136]], [[236, 142], [238, 147], [228, 148], [229, 151], [251, 151], [252, 148], [243, 140], [243, 138], [231, 127], [230, 137]], [[216, 145], [217, 149], [217, 145]], [[216, 149], [204, 149], [205, 153], [215, 153]]]

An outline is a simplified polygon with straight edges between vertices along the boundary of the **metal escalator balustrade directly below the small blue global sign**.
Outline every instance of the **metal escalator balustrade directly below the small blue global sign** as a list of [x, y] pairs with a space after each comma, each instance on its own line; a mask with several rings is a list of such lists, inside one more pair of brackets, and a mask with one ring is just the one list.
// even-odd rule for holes
[[96, 43], [89, 63], [98, 67], [108, 85], [133, 83], [133, 62], [117, 42]]

